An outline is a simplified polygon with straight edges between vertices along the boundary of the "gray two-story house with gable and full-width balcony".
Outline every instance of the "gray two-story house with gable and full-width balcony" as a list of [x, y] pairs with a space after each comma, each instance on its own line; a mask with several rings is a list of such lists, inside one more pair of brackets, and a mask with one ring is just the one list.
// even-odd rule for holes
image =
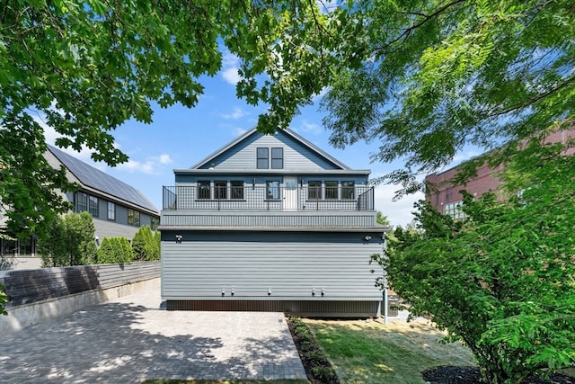
[[368, 170], [288, 129], [252, 129], [164, 187], [162, 298], [169, 310], [376, 317], [376, 224]]

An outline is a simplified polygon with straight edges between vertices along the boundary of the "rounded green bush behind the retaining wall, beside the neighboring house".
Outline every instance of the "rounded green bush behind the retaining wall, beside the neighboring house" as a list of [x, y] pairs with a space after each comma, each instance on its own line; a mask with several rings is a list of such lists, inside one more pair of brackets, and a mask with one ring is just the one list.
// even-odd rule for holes
[[49, 232], [38, 242], [38, 254], [45, 267], [85, 265], [95, 262], [95, 228], [88, 212], [56, 217]]

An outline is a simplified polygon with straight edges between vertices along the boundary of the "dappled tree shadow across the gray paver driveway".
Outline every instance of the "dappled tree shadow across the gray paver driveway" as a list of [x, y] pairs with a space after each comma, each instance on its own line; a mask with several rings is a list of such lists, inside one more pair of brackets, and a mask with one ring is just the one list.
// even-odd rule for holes
[[197, 326], [206, 325], [194, 324], [193, 319], [185, 329], [171, 329], [170, 313], [109, 302], [2, 336], [2, 380], [277, 379], [286, 373], [286, 364], [296, 363], [290, 355], [282, 354], [285, 343], [280, 337], [225, 345], [221, 337], [195, 332]]

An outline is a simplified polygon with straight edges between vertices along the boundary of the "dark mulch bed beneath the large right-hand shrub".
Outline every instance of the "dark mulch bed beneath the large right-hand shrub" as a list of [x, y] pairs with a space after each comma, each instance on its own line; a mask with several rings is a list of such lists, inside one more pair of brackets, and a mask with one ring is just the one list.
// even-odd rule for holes
[[[455, 367], [445, 365], [421, 373], [423, 380], [430, 384], [479, 384], [480, 373], [477, 367]], [[575, 384], [575, 378], [553, 374], [549, 379], [529, 378], [522, 384]]]

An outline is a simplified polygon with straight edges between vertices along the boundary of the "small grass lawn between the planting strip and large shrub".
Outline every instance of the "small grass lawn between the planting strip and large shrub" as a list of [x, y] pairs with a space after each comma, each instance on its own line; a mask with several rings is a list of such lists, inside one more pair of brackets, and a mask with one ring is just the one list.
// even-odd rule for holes
[[441, 344], [445, 334], [424, 322], [305, 319], [305, 324], [346, 384], [421, 384], [421, 371], [429, 368], [475, 365], [464, 345]]

